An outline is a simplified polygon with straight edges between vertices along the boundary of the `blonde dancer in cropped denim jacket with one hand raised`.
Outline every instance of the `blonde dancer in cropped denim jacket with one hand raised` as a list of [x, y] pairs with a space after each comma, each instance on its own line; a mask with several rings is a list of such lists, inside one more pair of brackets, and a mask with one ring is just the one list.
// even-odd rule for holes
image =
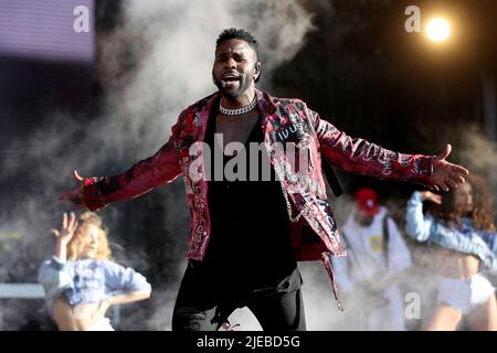
[[107, 232], [92, 212], [64, 213], [55, 254], [40, 268], [46, 304], [61, 331], [114, 331], [105, 317], [115, 304], [150, 297], [144, 276], [110, 260]]

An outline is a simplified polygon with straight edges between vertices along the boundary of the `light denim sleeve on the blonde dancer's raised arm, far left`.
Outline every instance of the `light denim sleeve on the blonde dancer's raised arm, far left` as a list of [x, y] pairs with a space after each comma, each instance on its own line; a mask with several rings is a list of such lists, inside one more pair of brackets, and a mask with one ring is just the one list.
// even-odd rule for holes
[[38, 281], [43, 286], [47, 301], [53, 301], [65, 289], [73, 287], [67, 263], [61, 263], [55, 256], [41, 265]]

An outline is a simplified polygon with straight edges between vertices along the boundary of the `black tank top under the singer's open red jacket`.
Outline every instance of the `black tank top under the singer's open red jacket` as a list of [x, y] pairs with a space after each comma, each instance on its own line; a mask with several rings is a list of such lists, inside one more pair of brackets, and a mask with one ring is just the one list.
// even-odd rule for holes
[[[214, 150], [216, 114], [218, 109], [212, 109], [205, 131], [204, 141], [211, 151]], [[224, 173], [223, 180], [214, 181], [212, 172], [212, 180], [208, 182], [211, 238], [203, 263], [216, 274], [221, 285], [226, 284], [232, 290], [275, 286], [297, 267], [290, 246], [286, 203], [273, 168], [271, 181], [250, 181], [248, 143], [263, 140], [260, 118], [245, 142], [247, 181], [228, 181]], [[266, 151], [261, 149], [258, 153], [262, 156]], [[224, 156], [223, 167], [232, 158]], [[262, 164], [267, 163], [267, 157], [257, 160], [261, 178]], [[214, 158], [211, 159], [211, 171], [213, 169]]]

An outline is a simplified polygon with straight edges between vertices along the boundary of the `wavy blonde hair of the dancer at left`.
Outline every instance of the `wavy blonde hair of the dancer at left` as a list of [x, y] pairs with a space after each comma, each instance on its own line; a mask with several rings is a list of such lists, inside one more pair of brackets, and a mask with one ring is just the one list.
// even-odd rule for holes
[[96, 213], [87, 211], [80, 215], [77, 223], [77, 228], [67, 244], [67, 259], [76, 260], [78, 258], [89, 225], [94, 225], [98, 228], [98, 250], [95, 255], [95, 259], [110, 259], [112, 252], [107, 239], [108, 231], [103, 227], [102, 217]]

